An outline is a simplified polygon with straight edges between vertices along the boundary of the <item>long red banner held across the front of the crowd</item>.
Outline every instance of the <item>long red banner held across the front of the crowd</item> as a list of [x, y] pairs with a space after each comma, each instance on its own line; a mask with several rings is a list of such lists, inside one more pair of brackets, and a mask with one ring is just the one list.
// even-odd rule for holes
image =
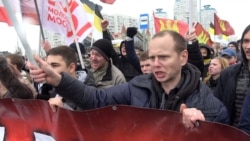
[[200, 122], [199, 127], [187, 129], [178, 112], [129, 106], [52, 112], [47, 101], [1, 99], [0, 115], [0, 140], [5, 141], [250, 140], [240, 130], [223, 124]]

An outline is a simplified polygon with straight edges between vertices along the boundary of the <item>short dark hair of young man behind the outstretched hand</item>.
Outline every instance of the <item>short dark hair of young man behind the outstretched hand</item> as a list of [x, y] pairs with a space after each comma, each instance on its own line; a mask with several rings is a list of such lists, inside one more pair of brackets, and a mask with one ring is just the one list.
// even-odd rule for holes
[[67, 66], [69, 66], [71, 63], [75, 63], [75, 65], [77, 65], [77, 57], [75, 54], [75, 50], [68, 46], [58, 46], [51, 48], [47, 53], [47, 56], [49, 55], [61, 56]]

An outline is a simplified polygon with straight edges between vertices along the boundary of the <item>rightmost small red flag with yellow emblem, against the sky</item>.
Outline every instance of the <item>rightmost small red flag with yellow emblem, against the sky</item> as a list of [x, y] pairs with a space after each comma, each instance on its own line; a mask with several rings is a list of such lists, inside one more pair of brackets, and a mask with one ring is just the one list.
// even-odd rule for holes
[[214, 34], [215, 35], [234, 35], [234, 29], [230, 25], [230, 23], [226, 20], [221, 20], [215, 13], [214, 13]]

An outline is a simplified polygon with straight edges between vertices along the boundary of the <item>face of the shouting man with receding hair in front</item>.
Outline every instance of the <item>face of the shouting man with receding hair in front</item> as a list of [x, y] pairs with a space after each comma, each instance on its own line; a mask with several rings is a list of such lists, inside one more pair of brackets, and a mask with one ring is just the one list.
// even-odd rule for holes
[[149, 59], [155, 78], [161, 83], [176, 81], [187, 63], [187, 51], [177, 53], [171, 35], [157, 37], [149, 43]]

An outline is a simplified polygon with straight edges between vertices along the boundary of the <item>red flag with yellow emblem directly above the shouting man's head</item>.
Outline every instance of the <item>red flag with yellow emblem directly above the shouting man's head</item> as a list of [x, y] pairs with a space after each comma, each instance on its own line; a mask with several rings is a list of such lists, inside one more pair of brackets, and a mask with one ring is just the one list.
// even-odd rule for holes
[[[154, 16], [154, 14], [153, 14]], [[188, 24], [183, 21], [157, 18], [154, 16], [155, 33], [162, 30], [174, 30], [185, 36], [188, 31]]]

